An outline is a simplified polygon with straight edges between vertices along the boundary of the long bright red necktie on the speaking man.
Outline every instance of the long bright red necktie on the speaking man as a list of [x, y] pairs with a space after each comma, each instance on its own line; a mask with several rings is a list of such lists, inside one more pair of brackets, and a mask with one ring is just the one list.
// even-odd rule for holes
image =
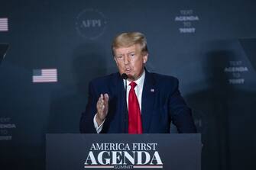
[[142, 133], [141, 123], [141, 111], [140, 105], [138, 104], [138, 98], [135, 94], [134, 87], [137, 85], [135, 82], [131, 82], [131, 89], [129, 91], [128, 98], [128, 133]]

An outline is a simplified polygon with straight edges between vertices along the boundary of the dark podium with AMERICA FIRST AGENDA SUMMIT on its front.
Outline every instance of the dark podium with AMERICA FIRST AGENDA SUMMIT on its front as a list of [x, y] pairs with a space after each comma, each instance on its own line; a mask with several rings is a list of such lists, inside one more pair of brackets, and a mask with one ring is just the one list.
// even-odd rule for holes
[[47, 134], [47, 170], [200, 170], [201, 135]]

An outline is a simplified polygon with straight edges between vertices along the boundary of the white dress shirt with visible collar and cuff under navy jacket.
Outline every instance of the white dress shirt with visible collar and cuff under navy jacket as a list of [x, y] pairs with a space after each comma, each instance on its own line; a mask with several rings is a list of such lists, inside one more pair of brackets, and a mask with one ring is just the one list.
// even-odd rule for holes
[[[145, 79], [145, 70], [143, 71], [141, 77], [137, 80], [135, 80], [134, 82], [137, 84], [134, 87], [134, 91], [135, 94], [138, 98], [138, 103], [140, 105], [140, 110], [141, 110], [141, 98], [142, 98], [142, 91], [143, 91], [143, 85], [144, 85], [144, 79]], [[126, 91], [126, 101], [127, 101], [127, 107], [128, 107], [128, 97], [129, 97], [129, 91], [131, 89], [131, 85], [130, 85], [130, 81], [127, 80], [127, 91]], [[125, 80], [124, 80], [124, 85], [125, 85]], [[108, 115], [107, 115], [108, 116]], [[98, 123], [96, 121], [96, 114], [93, 118], [93, 123], [94, 123], [94, 127], [96, 128], [97, 133], [100, 133], [102, 131], [102, 127], [104, 124], [105, 120], [103, 120], [103, 122], [98, 126]]]

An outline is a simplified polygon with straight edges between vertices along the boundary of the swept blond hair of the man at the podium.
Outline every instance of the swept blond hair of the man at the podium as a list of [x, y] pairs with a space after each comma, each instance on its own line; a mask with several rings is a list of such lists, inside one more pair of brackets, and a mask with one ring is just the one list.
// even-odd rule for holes
[[115, 49], [121, 47], [130, 47], [134, 44], [139, 44], [141, 46], [141, 53], [147, 53], [147, 40], [144, 34], [140, 32], [118, 34], [112, 42], [113, 56], [115, 56]]

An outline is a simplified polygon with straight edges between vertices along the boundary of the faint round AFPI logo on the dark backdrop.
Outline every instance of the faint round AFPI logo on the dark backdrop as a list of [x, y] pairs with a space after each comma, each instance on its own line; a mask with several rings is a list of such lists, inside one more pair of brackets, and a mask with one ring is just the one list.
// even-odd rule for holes
[[95, 9], [85, 9], [76, 17], [78, 34], [88, 39], [100, 37], [105, 31], [106, 24], [105, 15]]

